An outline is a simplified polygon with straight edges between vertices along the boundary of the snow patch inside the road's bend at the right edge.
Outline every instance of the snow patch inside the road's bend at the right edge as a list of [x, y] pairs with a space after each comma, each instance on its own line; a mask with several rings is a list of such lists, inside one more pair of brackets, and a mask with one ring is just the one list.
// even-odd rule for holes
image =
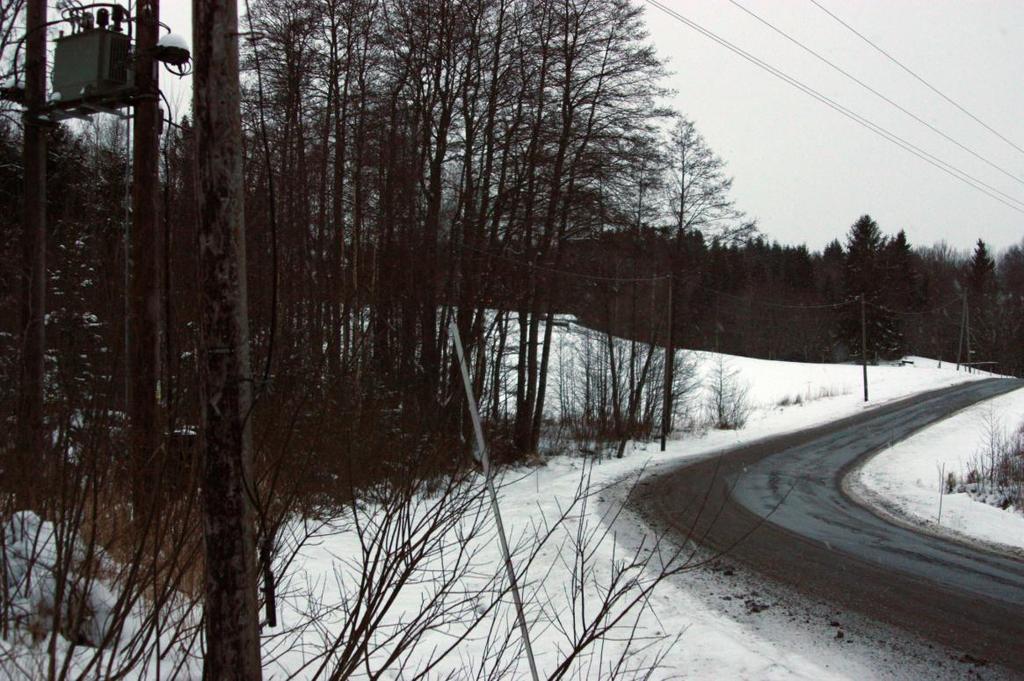
[[859, 482], [887, 509], [965, 538], [1024, 549], [1024, 514], [972, 499], [942, 495], [943, 476], [962, 479], [984, 446], [989, 424], [1014, 429], [1024, 421], [1024, 389], [976, 405], [880, 453], [860, 469]]

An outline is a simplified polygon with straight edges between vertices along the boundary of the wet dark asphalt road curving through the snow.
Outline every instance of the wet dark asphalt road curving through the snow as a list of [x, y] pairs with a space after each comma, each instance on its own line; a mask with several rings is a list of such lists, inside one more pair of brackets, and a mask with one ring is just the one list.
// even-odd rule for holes
[[812, 597], [1024, 676], [1024, 561], [894, 524], [842, 485], [860, 459], [1022, 385], [967, 383], [743, 446], [664, 473], [633, 501]]

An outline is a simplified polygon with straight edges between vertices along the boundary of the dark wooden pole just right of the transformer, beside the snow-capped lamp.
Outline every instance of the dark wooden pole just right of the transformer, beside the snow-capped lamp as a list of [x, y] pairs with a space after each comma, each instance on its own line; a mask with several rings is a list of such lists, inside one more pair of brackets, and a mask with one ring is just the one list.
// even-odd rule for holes
[[[160, 31], [159, 0], [135, 8], [135, 125], [132, 137], [131, 275], [129, 290], [128, 421], [137, 503], [153, 498], [148, 472], [160, 426], [160, 191], [159, 62], [154, 58]], [[137, 510], [137, 509], [136, 509]]]

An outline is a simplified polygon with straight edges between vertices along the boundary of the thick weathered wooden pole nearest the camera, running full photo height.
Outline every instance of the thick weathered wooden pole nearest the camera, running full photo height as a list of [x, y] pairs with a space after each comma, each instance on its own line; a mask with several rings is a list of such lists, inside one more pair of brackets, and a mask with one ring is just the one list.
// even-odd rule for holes
[[203, 678], [260, 678], [238, 3], [193, 0], [201, 292]]

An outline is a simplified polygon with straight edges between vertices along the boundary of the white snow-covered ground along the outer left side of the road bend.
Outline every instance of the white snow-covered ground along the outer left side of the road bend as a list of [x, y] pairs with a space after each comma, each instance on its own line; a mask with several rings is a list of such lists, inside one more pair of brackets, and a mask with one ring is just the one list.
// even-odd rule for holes
[[[561, 332], [560, 332], [561, 333]], [[569, 332], [566, 332], [569, 333]], [[563, 344], [564, 345], [564, 344]], [[709, 456], [716, 451], [822, 424], [857, 414], [880, 403], [918, 392], [981, 378], [941, 368], [930, 359], [913, 358], [906, 366], [871, 367], [870, 401], [865, 405], [858, 366], [813, 365], [769, 361], [714, 353], [689, 353], [695, 376], [705, 385], [722, 365], [745, 385], [753, 411], [741, 430], [706, 430], [679, 433], [667, 452], [656, 443], [631, 443], [623, 459], [582, 456], [549, 458], [544, 465], [504, 472], [500, 504], [505, 526], [518, 547], [516, 560], [535, 552], [528, 570], [520, 576], [530, 633], [542, 676], [550, 674], [565, 654], [578, 628], [593, 616], [593, 607], [615, 574], [642, 587], [660, 564], [652, 559], [642, 569], [631, 569], [634, 557], [650, 555], [653, 531], [642, 518], [621, 507], [630, 483], [644, 474], [680, 461]], [[702, 390], [693, 391], [698, 403]], [[1021, 393], [1017, 393], [1021, 396]], [[925, 479], [922, 474], [922, 479]], [[929, 474], [928, 477], [937, 476]], [[580, 497], [581, 485], [589, 491]], [[936, 495], [937, 497], [937, 495]], [[402, 518], [402, 531], [415, 538], [420, 522], [438, 513], [436, 497], [417, 500]], [[955, 512], [949, 507], [949, 517]], [[501, 554], [485, 503], [470, 506], [471, 513], [454, 525], [450, 536], [427, 538], [433, 547], [429, 560], [415, 567], [409, 584], [394, 594], [394, 603], [376, 624], [379, 648], [372, 657], [382, 666], [388, 651], [403, 632], [416, 627], [417, 613], [438, 596], [438, 576], [458, 573], [458, 584], [440, 600], [453, 612], [443, 626], [423, 631], [420, 644], [399, 655], [388, 668], [387, 678], [406, 678], [425, 672], [430, 678], [471, 675], [474, 667], [488, 668], [496, 641], [518, 640], [514, 610], [509, 599], [488, 604], [488, 590], [504, 580]], [[994, 509], [993, 509], [994, 510]], [[360, 505], [359, 520], [372, 538], [379, 509]], [[331, 531], [308, 542], [288, 568], [287, 588], [279, 594], [282, 626], [264, 630], [267, 678], [312, 678], [318, 669], [317, 654], [332, 643], [344, 647], [344, 625], [355, 616], [346, 607], [359, 602], [360, 573], [373, 562], [373, 552], [364, 552], [354, 530], [351, 511], [337, 518]], [[944, 514], [947, 511], [944, 510]], [[539, 528], [554, 526], [544, 545], [532, 543]], [[432, 542], [432, 544], [431, 544]], [[586, 546], [583, 563], [573, 547]], [[384, 547], [390, 558], [400, 549]], [[521, 564], [521, 563], [520, 563]], [[380, 569], [380, 563], [375, 569]], [[625, 571], [624, 571], [625, 570]], [[635, 582], [630, 582], [635, 580]], [[472, 602], [465, 598], [470, 595]], [[585, 597], [585, 598], [582, 598]], [[460, 601], [460, 599], [463, 599]], [[927, 657], [927, 643], [911, 650], [895, 639], [880, 644], [874, 625], [840, 613], [822, 603], [800, 603], [760, 583], [738, 566], [701, 567], [674, 576], [657, 585], [635, 609], [612, 630], [605, 641], [578, 659], [570, 678], [594, 678], [607, 672], [607, 665], [632, 636], [637, 666], [658, 667], [653, 678], [697, 679], [863, 679], [924, 678], [939, 674]], [[442, 603], [443, 605], [443, 603]], [[767, 607], [764, 607], [767, 606]], [[461, 608], [461, 609], [460, 609]], [[442, 608], [443, 609], [443, 608]], [[315, 626], [302, 628], [303, 618], [318, 614]], [[467, 629], [466, 616], [478, 618], [480, 626]], [[843, 633], [845, 632], [845, 634]], [[464, 638], [461, 638], [464, 637]], [[649, 645], [648, 645], [649, 644]], [[445, 646], [455, 652], [436, 666], [432, 661]], [[911, 646], [912, 647], [912, 646]], [[920, 653], [926, 650], [925, 656]], [[45, 654], [45, 651], [40, 651]], [[81, 652], [81, 650], [80, 650]], [[514, 650], [506, 661], [515, 658]], [[198, 661], [197, 661], [198, 665]], [[199, 672], [194, 665], [193, 672]], [[519, 657], [499, 676], [527, 676]], [[330, 667], [328, 667], [330, 669]], [[492, 668], [493, 669], [493, 668]], [[364, 672], [365, 670], [356, 670]], [[955, 676], [955, 666], [946, 670]], [[964, 670], [959, 670], [963, 673]]]

